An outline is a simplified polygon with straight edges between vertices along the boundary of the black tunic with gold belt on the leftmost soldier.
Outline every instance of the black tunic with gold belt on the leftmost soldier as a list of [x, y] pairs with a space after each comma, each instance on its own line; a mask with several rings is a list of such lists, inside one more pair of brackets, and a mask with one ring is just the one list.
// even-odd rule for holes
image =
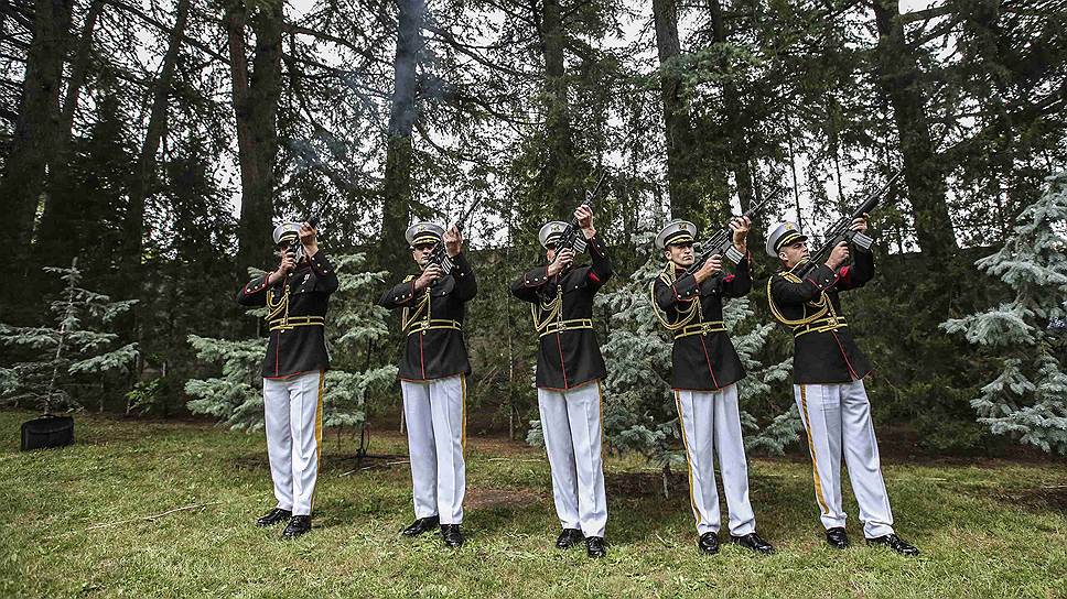
[[[324, 318], [330, 294], [337, 291], [337, 273], [322, 250], [310, 261], [301, 261], [297, 270], [273, 285], [267, 284], [267, 274], [257, 276], [237, 292], [242, 306], [266, 306], [268, 295], [277, 305], [284, 302], [288, 283], [288, 323], [284, 311], [268, 322], [270, 339], [261, 372], [266, 379], [284, 378], [300, 372], [326, 370]], [[306, 324], [306, 323], [313, 324]]]

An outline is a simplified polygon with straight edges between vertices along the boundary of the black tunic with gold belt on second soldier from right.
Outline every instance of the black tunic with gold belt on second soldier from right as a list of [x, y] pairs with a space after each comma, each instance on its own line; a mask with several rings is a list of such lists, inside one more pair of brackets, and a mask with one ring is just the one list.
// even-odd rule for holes
[[[752, 270], [750, 257], [746, 254], [734, 274], [713, 276], [700, 284], [697, 277], [681, 276], [683, 270], [678, 270], [680, 276], [673, 283], [664, 277], [655, 281], [654, 294], [656, 304], [666, 314], [668, 323], [678, 323], [681, 313], [692, 302], [700, 298], [700, 309], [703, 317], [693, 317], [686, 328], [675, 331], [676, 338], [671, 348], [672, 364], [671, 386], [680, 390], [718, 391], [745, 378], [745, 368], [741, 358], [730, 341], [730, 336], [721, 326], [723, 297], [744, 297], [752, 291]], [[679, 336], [687, 330], [699, 328], [701, 323], [707, 333], [696, 333]]]

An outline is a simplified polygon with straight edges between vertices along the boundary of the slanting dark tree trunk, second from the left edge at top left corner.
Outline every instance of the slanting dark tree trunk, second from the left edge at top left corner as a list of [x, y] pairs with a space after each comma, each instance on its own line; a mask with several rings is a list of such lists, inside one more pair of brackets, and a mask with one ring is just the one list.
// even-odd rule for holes
[[74, 160], [74, 118], [82, 101], [82, 90], [93, 57], [93, 33], [103, 9], [104, 0], [93, 0], [78, 35], [56, 131], [55, 160], [50, 168], [52, 176], [48, 177], [48, 193], [35, 240], [35, 251], [52, 257], [57, 264], [68, 263], [86, 242], [84, 235], [75, 232], [78, 231], [75, 221], [85, 219], [86, 215], [84, 204], [77, 202], [79, 195], [72, 193], [71, 163]]

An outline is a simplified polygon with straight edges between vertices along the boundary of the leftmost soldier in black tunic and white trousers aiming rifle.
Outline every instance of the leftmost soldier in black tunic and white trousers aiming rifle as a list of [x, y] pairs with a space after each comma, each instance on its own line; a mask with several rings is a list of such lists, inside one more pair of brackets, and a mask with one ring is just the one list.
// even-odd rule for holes
[[310, 224], [274, 228], [281, 263], [241, 287], [237, 302], [267, 306], [270, 339], [263, 359], [267, 456], [278, 505], [256, 521], [289, 520], [283, 537], [311, 530], [322, 453], [322, 390], [330, 358], [324, 323], [337, 273], [319, 249]]

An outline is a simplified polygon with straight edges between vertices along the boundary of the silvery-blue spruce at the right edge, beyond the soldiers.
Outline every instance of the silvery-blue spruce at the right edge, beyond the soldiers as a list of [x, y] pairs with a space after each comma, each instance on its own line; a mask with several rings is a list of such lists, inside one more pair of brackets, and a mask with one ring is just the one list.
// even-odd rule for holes
[[1004, 247], [978, 260], [980, 271], [1015, 294], [995, 308], [941, 324], [995, 356], [1000, 374], [971, 400], [978, 422], [996, 435], [1067, 455], [1067, 172], [1016, 218]]

